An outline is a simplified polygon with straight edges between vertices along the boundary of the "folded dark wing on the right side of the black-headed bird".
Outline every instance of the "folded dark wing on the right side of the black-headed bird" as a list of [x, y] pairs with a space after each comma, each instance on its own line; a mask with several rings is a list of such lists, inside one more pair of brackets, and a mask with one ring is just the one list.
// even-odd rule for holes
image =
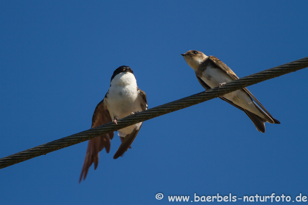
[[[137, 87], [137, 90], [139, 91], [139, 97], [140, 97], [140, 101], [141, 101], [141, 108], [142, 108], [142, 111], [148, 109], [148, 102], [147, 102], [147, 96], [146, 94], [144, 93], [144, 91], [140, 90], [138, 87]], [[142, 125], [142, 123], [141, 123]], [[128, 135], [126, 135], [124, 137], [124, 139], [121, 139], [123, 140], [120, 147], [118, 148], [118, 150], [115, 152], [115, 155], [113, 156], [113, 159], [117, 159], [119, 158], [124, 152], [127, 151], [127, 149], [131, 146], [131, 144], [133, 143], [133, 141], [135, 140], [140, 128], [141, 128], [141, 125], [138, 129], [134, 129], [134, 131]]]

